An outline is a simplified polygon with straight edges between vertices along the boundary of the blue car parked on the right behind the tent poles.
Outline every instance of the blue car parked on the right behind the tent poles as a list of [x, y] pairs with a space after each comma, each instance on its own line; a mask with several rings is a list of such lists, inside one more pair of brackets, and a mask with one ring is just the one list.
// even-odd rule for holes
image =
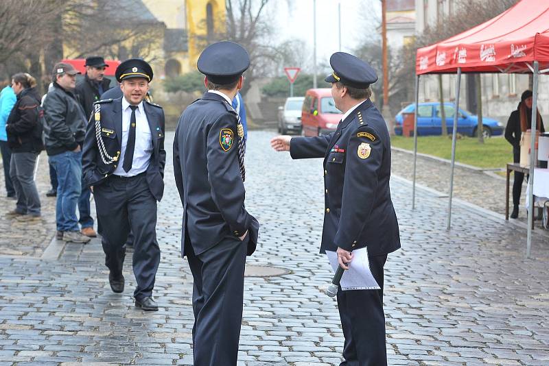
[[[410, 104], [401, 110], [395, 117], [395, 134], [402, 135], [403, 112], [413, 113], [415, 105]], [[419, 113], [417, 114], [417, 136], [440, 135], [442, 133], [441, 103], [433, 101], [429, 103], [419, 103]], [[448, 134], [454, 130], [454, 103], [444, 103], [444, 112], [446, 114], [446, 127]], [[478, 117], [460, 109], [458, 114], [458, 133], [467, 136], [476, 136]], [[495, 119], [482, 117], [482, 136], [498, 136], [503, 134], [503, 124]]]

